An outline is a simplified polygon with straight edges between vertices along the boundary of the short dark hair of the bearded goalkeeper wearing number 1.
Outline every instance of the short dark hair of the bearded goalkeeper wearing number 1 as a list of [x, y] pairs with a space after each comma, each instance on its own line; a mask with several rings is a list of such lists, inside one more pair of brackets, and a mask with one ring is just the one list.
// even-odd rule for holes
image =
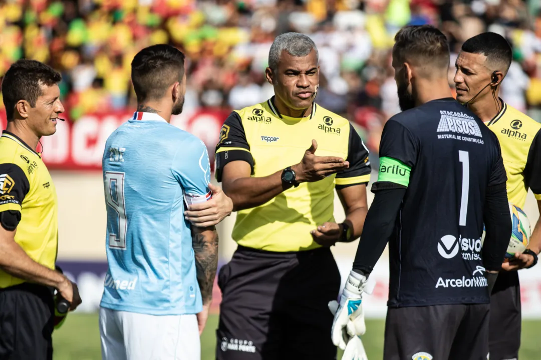
[[444, 33], [432, 25], [408, 25], [394, 36], [395, 55], [413, 65], [433, 64], [448, 69], [451, 52]]

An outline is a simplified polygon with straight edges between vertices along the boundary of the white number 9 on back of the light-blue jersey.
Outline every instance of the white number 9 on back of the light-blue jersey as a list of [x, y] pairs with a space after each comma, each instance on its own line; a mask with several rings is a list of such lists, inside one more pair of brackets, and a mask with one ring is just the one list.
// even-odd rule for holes
[[[118, 223], [109, 232], [109, 248], [126, 250], [126, 204], [124, 203], [124, 173], [105, 172], [105, 202], [118, 215]], [[118, 227], [115, 229], [115, 225]]]

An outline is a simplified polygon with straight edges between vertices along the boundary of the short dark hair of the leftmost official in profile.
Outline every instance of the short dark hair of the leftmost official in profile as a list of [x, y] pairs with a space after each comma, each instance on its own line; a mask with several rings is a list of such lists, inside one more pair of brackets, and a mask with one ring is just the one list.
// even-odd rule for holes
[[34, 107], [37, 98], [42, 95], [41, 86], [52, 86], [61, 80], [60, 73], [36, 60], [21, 59], [11, 64], [2, 80], [2, 95], [8, 121], [14, 119], [18, 101], [26, 100]]

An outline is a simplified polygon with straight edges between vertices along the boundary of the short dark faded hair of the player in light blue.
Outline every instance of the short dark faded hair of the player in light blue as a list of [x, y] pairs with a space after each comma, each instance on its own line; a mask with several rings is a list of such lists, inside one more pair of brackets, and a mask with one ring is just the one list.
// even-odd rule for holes
[[183, 76], [184, 54], [167, 44], [145, 47], [131, 61], [131, 82], [139, 103], [161, 98]]

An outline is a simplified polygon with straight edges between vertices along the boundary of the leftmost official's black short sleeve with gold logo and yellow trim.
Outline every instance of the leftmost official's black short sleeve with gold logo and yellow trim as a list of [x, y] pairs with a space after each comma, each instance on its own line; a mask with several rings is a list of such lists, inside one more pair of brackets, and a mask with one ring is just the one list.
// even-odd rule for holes
[[15, 164], [0, 164], [0, 212], [21, 212], [30, 183], [23, 169]]

